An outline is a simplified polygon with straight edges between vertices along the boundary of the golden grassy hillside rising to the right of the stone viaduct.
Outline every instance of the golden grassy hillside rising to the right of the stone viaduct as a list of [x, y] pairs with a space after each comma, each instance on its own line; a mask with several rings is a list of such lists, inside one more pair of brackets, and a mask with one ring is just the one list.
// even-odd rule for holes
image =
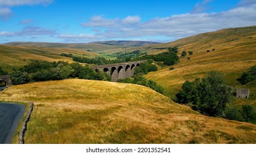
[[[171, 98], [181, 90], [183, 82], [206, 76], [211, 70], [224, 73], [228, 85], [246, 87], [239, 85], [236, 79], [250, 66], [256, 65], [256, 27], [223, 29], [168, 43], [168, 46], [176, 45], [180, 49], [178, 54], [183, 50], [194, 54], [181, 58], [180, 63], [173, 65], [175, 70], [170, 71], [168, 67], [146, 75], [165, 87], [164, 94]], [[206, 52], [212, 49], [215, 50]], [[191, 59], [187, 60], [188, 57]], [[248, 84], [247, 87], [252, 90], [251, 94], [256, 93], [255, 85]], [[255, 101], [256, 97], [251, 99]]]

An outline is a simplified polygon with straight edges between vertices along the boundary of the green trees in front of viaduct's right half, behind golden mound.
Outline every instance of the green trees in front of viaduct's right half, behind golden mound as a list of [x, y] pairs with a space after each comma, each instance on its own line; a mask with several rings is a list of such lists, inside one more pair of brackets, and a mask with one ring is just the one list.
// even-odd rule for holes
[[163, 94], [163, 87], [158, 85], [153, 80], [147, 80], [146, 77], [141, 75], [135, 75], [134, 78], [126, 77], [125, 79], [118, 79], [117, 82], [127, 83], [127, 84], [137, 84], [142, 86], [150, 87], [152, 90]]

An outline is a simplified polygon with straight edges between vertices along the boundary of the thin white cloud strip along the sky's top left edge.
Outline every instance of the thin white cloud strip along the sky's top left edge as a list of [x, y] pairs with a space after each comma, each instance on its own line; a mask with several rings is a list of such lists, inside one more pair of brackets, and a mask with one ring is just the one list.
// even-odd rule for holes
[[52, 3], [53, 0], [0, 0], [0, 6], [23, 6], [23, 5], [38, 5], [38, 4], [43, 4], [43, 5], [48, 5]]

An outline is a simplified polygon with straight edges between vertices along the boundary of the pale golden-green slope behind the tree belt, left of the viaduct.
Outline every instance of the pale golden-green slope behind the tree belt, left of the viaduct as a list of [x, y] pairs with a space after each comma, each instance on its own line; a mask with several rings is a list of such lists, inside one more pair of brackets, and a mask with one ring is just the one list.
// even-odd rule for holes
[[99, 55], [79, 49], [0, 45], [0, 66], [4, 71], [11, 72], [13, 68], [17, 69], [24, 66], [28, 64], [30, 60], [74, 62], [72, 58], [60, 56], [62, 53], [71, 53], [73, 55], [86, 54], [90, 58], [94, 58]]

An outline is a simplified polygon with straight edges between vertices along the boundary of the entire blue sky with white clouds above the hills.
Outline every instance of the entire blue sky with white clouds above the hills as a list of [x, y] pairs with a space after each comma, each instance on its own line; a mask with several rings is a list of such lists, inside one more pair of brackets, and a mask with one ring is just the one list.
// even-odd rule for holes
[[256, 0], [0, 0], [0, 43], [171, 42], [256, 25]]

